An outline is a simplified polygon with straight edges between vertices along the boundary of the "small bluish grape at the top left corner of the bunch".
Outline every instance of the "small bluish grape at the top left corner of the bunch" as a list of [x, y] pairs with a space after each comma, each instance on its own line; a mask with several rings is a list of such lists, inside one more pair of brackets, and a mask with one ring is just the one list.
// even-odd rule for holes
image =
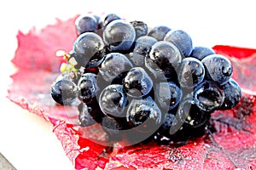
[[81, 14], [75, 20], [75, 27], [78, 35], [84, 32], [97, 32], [98, 22], [93, 14]]

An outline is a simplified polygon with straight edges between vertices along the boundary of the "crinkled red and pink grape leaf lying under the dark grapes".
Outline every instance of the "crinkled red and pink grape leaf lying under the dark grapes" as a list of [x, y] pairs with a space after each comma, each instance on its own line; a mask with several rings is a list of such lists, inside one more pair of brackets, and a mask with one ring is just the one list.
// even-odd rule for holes
[[[215, 46], [218, 54], [230, 58], [234, 66], [233, 78], [241, 84], [242, 99], [232, 111], [212, 114], [212, 127], [198, 139], [181, 146], [154, 142], [118, 147], [105, 156], [100, 126], [84, 128], [90, 134], [84, 138], [76, 126], [76, 105], [56, 105], [51, 99], [50, 84], [59, 74], [61, 59], [58, 49], [69, 51], [76, 37], [74, 20], [57, 20], [41, 31], [32, 30], [17, 35], [18, 48], [12, 60], [18, 71], [12, 75], [8, 98], [22, 108], [44, 117], [53, 124], [53, 132], [60, 139], [68, 158], [76, 169], [255, 169], [256, 168], [256, 49]], [[243, 76], [243, 77], [242, 77]], [[70, 114], [71, 113], [71, 114]], [[213, 130], [214, 132], [213, 132]], [[100, 134], [100, 135], [99, 135]]]

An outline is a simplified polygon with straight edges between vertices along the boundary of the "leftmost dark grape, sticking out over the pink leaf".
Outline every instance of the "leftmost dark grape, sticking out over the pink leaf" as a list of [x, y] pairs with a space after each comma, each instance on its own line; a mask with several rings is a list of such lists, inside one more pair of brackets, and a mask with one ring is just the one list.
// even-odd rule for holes
[[77, 85], [69, 79], [53, 82], [50, 89], [52, 99], [61, 105], [70, 105], [77, 99], [79, 90]]

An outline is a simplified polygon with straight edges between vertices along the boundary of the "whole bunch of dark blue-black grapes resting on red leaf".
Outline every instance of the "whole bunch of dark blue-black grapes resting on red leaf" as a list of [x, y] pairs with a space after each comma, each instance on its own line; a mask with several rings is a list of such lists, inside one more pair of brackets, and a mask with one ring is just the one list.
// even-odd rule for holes
[[51, 96], [60, 105], [79, 100], [80, 127], [100, 123], [109, 139], [178, 141], [204, 132], [212, 112], [241, 99], [230, 60], [193, 47], [186, 31], [117, 14], [81, 14], [74, 26]]

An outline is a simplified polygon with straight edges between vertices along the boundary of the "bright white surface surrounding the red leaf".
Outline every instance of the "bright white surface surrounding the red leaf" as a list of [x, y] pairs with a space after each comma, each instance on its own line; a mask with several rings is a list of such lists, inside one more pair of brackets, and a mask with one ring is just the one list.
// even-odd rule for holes
[[[141, 2], [141, 3], [139, 3]], [[149, 26], [165, 25], [187, 31], [194, 45], [229, 44], [256, 48], [256, 10], [253, 1], [1, 1], [1, 111], [0, 152], [19, 170], [72, 170], [52, 127], [38, 116], [5, 99], [14, 71], [9, 60], [15, 54], [18, 30], [26, 32], [75, 14], [95, 11], [116, 13], [127, 20], [143, 20]]]

